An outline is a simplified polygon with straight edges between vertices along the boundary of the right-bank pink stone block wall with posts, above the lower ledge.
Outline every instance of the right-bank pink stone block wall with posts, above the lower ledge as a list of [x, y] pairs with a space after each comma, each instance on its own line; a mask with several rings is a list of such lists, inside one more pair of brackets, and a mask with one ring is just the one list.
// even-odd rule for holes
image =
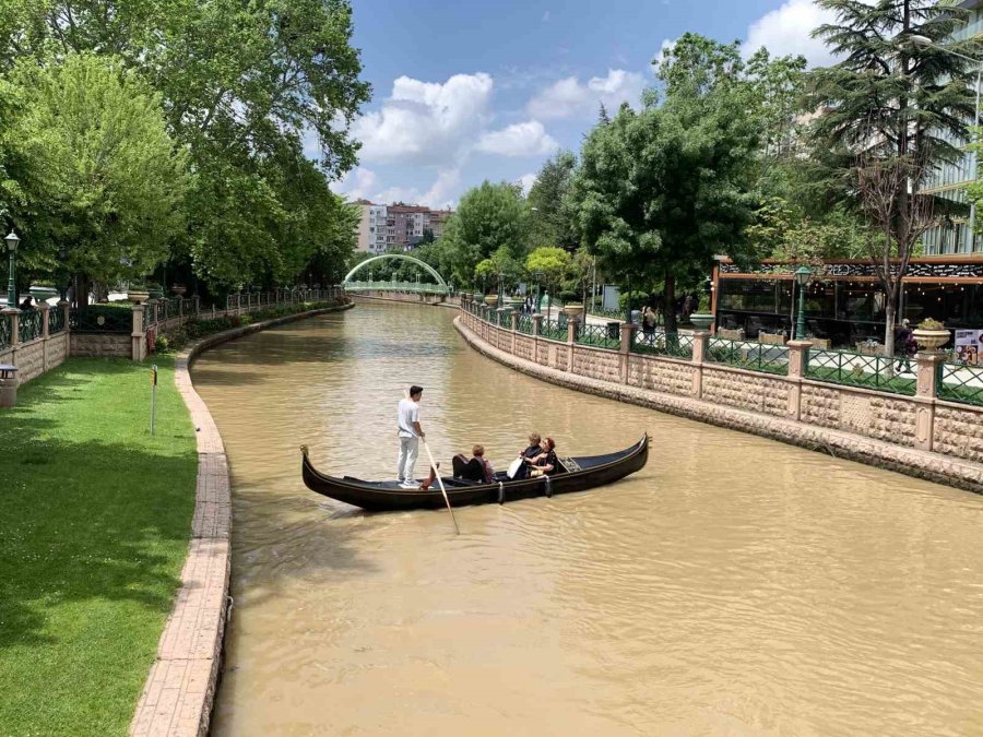
[[[658, 392], [690, 403], [687, 406], [694, 412], [678, 414], [710, 421], [713, 407], [734, 408], [792, 423], [802, 428], [803, 437], [809, 435], [807, 429], [833, 430], [850, 433], [858, 443], [871, 439], [929, 451], [931, 455], [983, 462], [983, 407], [938, 399], [936, 376], [941, 358], [934, 354], [916, 356], [916, 388], [914, 395], [908, 396], [808, 378], [807, 352], [812, 344], [806, 341], [786, 344], [787, 372], [778, 375], [707, 360], [707, 332], [692, 335], [691, 358], [674, 358], [633, 350], [635, 331], [628, 323], [620, 325], [619, 347], [606, 349], [578, 343], [576, 321], [571, 321], [567, 340], [562, 341], [541, 334], [542, 316], [533, 316], [532, 330], [526, 333], [518, 329], [519, 316], [508, 316], [507, 326], [499, 326], [493, 320], [501, 321], [502, 317], [493, 314], [496, 313], [486, 307], [476, 308], [465, 297], [460, 322], [499, 352], [571, 378], [604, 382], [611, 387], [608, 393], [619, 399], [638, 393], [635, 390]], [[665, 403], [667, 411], [674, 411], [673, 407], [684, 405]], [[750, 423], [748, 429], [755, 431], [754, 425]], [[785, 436], [786, 430], [782, 428]], [[983, 466], [969, 473], [978, 475], [974, 483], [983, 488]]]

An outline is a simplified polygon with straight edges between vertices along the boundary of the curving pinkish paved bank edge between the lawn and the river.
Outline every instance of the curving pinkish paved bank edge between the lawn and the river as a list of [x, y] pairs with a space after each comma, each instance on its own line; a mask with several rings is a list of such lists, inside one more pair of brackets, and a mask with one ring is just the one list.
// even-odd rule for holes
[[202, 353], [222, 343], [353, 307], [348, 302], [307, 310], [206, 335], [175, 357], [174, 382], [197, 430], [194, 513], [188, 556], [181, 569], [181, 587], [137, 703], [130, 735], [205, 737], [218, 685], [232, 574], [232, 486], [225, 444], [208, 405], [191, 382], [191, 365]]

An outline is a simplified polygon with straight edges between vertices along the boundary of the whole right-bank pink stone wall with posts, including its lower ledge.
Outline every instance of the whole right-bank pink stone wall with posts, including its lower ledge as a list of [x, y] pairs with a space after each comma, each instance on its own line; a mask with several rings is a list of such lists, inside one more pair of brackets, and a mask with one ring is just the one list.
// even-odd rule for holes
[[983, 491], [983, 409], [934, 396], [934, 356], [919, 356], [919, 394], [813, 381], [803, 377], [808, 344], [790, 343], [789, 376], [703, 361], [697, 333], [692, 360], [630, 352], [623, 325], [618, 350], [500, 328], [462, 311], [458, 330], [479, 350], [532, 376], [663, 412], [826, 449], [875, 465]]

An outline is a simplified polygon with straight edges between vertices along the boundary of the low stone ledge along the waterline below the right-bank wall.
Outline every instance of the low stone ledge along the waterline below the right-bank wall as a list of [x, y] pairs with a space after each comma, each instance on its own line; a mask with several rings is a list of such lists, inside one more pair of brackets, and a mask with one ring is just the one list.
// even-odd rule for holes
[[485, 343], [463, 324], [460, 317], [454, 318], [454, 328], [464, 341], [482, 355], [552, 384], [636, 404], [730, 430], [761, 436], [807, 450], [826, 451], [836, 457], [844, 457], [907, 476], [955, 486], [974, 494], [983, 494], [983, 465], [971, 461], [961, 461], [937, 453], [895, 445], [842, 430], [758, 415], [702, 400], [674, 396], [649, 389], [568, 373], [519, 358]]

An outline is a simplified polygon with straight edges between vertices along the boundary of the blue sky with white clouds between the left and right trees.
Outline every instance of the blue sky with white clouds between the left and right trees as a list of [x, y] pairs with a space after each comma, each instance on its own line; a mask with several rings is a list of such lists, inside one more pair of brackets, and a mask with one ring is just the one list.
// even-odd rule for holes
[[812, 0], [354, 0], [354, 45], [372, 102], [353, 126], [359, 166], [335, 191], [376, 202], [457, 203], [483, 179], [529, 187], [578, 151], [604, 102], [637, 104], [651, 61], [686, 31], [747, 52], [829, 61], [808, 37]]

